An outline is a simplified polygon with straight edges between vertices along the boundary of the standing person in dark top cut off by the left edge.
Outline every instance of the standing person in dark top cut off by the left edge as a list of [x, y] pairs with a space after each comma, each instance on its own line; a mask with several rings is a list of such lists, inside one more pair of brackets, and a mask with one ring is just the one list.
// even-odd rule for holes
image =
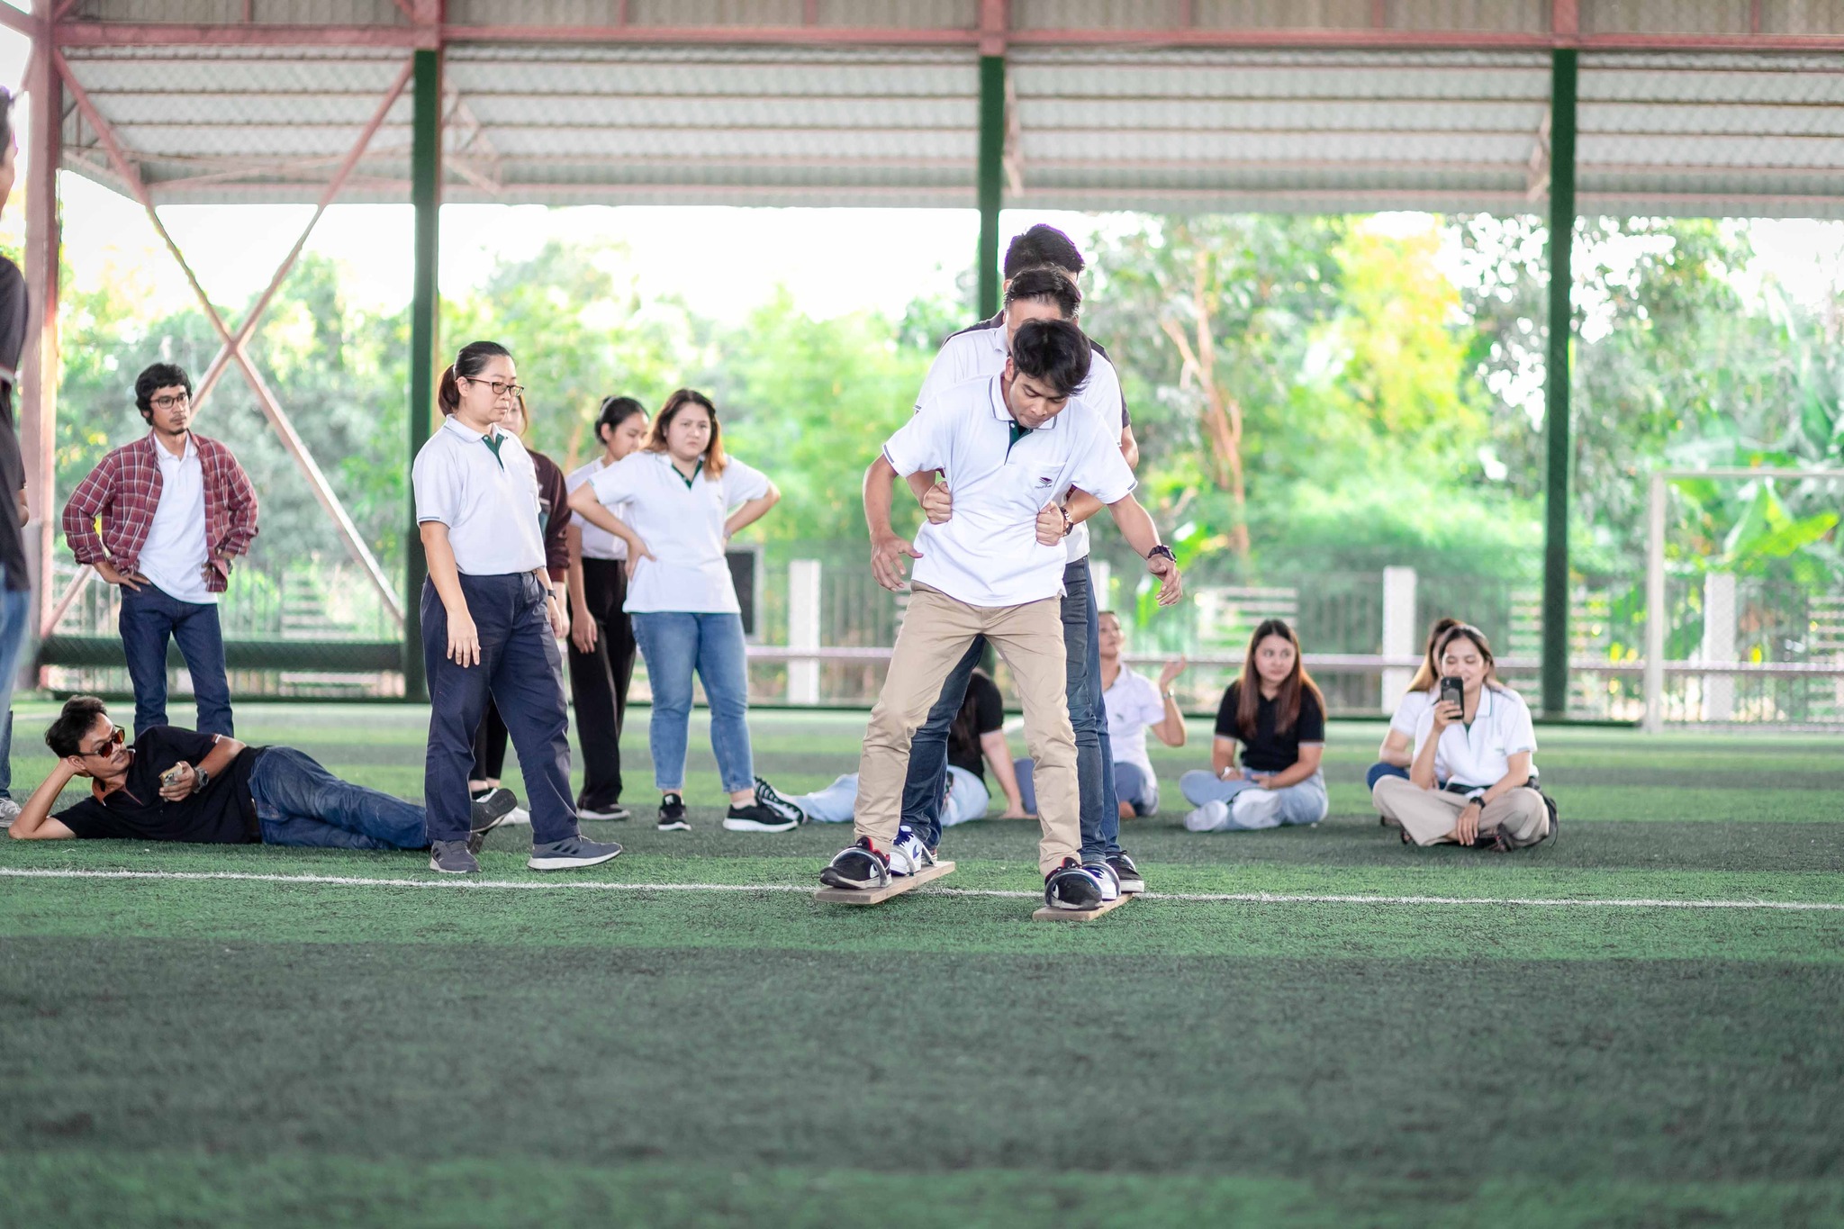
[[[0, 208], [13, 193], [18, 142], [13, 140], [13, 94], [0, 88]], [[0, 256], [0, 488], [13, 492], [18, 507], [9, 516], [0, 510], [0, 824], [18, 814], [7, 789], [13, 785], [13, 678], [18, 650], [26, 643], [31, 619], [31, 573], [26, 566], [26, 461], [18, 451], [13, 420], [13, 385], [18, 359], [26, 350], [26, 324], [31, 310], [26, 278], [18, 265]]]

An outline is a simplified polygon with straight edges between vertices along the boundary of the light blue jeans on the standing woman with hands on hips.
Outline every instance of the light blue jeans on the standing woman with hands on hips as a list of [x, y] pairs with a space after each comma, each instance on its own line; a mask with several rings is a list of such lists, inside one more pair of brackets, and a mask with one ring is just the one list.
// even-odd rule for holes
[[734, 794], [756, 783], [749, 748], [749, 658], [743, 615], [690, 610], [647, 610], [631, 615], [634, 641], [647, 661], [653, 687], [653, 785], [662, 794], [686, 787], [686, 739], [692, 733], [692, 673], [710, 700], [710, 750], [717, 755], [723, 790]]

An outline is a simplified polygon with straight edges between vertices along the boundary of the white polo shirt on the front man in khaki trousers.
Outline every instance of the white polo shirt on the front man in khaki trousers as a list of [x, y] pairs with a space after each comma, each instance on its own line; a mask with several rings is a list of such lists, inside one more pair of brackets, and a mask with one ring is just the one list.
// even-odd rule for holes
[[946, 525], [922, 525], [913, 577], [970, 606], [1060, 595], [1064, 544], [1038, 544], [1036, 514], [1070, 486], [1103, 503], [1134, 490], [1119, 431], [1066, 405], [1014, 442], [1018, 424], [999, 383], [988, 376], [939, 392], [883, 444], [900, 475], [946, 472], [953, 516]]

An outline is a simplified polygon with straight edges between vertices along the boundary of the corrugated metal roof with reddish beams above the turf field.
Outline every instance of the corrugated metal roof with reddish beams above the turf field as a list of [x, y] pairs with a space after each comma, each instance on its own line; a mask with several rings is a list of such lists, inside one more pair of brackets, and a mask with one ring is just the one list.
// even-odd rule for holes
[[[1580, 46], [1584, 214], [1844, 217], [1844, 0], [79, 0], [59, 50], [159, 203], [312, 201], [411, 46], [446, 201], [1538, 210]], [[1575, 7], [1575, 6], [1571, 6]], [[240, 20], [247, 15], [251, 20]], [[1379, 20], [1381, 18], [1381, 20]], [[1289, 22], [1294, 22], [1289, 26]], [[431, 33], [435, 29], [435, 33]], [[406, 201], [409, 99], [341, 199]], [[65, 166], [122, 186], [83, 111]]]

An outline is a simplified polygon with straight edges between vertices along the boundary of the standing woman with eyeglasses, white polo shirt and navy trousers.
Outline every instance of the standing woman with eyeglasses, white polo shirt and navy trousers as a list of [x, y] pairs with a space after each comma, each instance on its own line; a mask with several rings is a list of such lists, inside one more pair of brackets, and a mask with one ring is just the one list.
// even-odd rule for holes
[[583, 840], [570, 802], [570, 715], [557, 652], [564, 612], [544, 566], [537, 468], [518, 437], [500, 429], [522, 391], [505, 346], [461, 346], [437, 392], [443, 426], [409, 474], [430, 564], [420, 606], [430, 870], [450, 875], [479, 872], [467, 846], [467, 783], [489, 698], [526, 776], [526, 866], [570, 870], [621, 853], [618, 844]]

